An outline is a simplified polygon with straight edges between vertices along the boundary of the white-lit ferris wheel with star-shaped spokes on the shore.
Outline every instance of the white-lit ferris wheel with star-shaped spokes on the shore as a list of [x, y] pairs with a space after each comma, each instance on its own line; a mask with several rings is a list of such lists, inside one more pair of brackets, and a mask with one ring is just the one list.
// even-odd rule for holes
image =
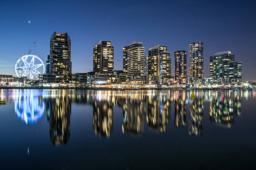
[[23, 55], [15, 63], [15, 73], [18, 77], [38, 80], [38, 75], [45, 72], [44, 62], [37, 55]]

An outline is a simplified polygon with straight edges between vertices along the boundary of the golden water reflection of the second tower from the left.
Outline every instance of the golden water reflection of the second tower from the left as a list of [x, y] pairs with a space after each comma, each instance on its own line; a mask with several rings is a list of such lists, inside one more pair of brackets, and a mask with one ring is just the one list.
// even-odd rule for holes
[[100, 137], [110, 138], [113, 130], [113, 106], [111, 102], [94, 101], [93, 107], [93, 130]]

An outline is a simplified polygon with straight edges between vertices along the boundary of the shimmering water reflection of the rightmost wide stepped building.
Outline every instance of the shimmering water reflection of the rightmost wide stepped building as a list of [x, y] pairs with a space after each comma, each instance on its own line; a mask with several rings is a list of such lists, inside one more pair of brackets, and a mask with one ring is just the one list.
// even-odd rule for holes
[[210, 121], [215, 125], [230, 128], [235, 116], [241, 116], [240, 95], [215, 97], [210, 103]]

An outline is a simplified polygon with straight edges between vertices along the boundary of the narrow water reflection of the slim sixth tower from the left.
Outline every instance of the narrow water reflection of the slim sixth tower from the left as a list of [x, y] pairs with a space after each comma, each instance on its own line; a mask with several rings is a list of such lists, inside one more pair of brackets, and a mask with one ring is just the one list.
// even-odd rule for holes
[[189, 135], [202, 136], [203, 133], [203, 100], [195, 98], [189, 103]]

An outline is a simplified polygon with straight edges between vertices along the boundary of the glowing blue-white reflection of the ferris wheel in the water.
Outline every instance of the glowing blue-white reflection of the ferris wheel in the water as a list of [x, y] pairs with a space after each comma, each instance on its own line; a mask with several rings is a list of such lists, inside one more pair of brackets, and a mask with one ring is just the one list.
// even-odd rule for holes
[[36, 123], [44, 115], [45, 104], [42, 97], [16, 97], [14, 103], [17, 117], [27, 125]]

